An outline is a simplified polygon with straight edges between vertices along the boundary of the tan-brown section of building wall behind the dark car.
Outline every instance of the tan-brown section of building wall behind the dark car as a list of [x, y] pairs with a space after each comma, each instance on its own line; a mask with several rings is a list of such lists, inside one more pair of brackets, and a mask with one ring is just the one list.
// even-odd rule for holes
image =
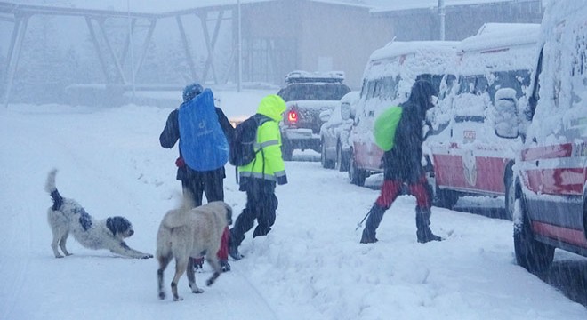
[[[243, 36], [282, 39], [286, 54], [277, 66], [279, 85], [294, 69], [342, 70], [353, 89], [361, 84], [371, 52], [389, 43], [393, 26], [387, 18], [374, 18], [367, 8], [289, 0], [247, 5], [243, 11]], [[280, 57], [277, 57], [279, 60]], [[294, 60], [289, 63], [287, 59]]]

